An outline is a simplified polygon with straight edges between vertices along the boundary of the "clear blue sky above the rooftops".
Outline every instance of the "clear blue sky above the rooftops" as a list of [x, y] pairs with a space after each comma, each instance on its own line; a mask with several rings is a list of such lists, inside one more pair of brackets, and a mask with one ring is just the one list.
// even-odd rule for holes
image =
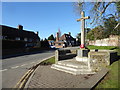
[[55, 35], [58, 28], [62, 34], [71, 32], [75, 37], [80, 32], [78, 18], [73, 2], [2, 2], [3, 25], [16, 28], [21, 24], [25, 30], [39, 31], [41, 39]]

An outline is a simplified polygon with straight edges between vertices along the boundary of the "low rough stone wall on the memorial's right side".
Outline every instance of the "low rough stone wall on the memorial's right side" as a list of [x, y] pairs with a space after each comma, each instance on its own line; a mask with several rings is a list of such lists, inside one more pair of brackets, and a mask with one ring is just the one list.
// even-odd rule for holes
[[104, 67], [107, 67], [108, 65], [112, 64], [114, 61], [116, 61], [117, 58], [117, 52], [115, 51], [98, 51], [94, 52], [91, 51], [88, 54], [90, 59], [90, 67], [93, 71], [99, 71]]

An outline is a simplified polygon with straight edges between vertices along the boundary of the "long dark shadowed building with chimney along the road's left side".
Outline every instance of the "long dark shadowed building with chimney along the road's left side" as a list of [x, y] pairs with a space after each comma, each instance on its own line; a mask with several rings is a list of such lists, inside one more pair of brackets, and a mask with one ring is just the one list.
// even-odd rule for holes
[[2, 40], [9, 41], [21, 41], [24, 42], [24, 47], [35, 47], [38, 45], [40, 38], [38, 32], [34, 33], [32, 31], [23, 30], [22, 25], [18, 25], [18, 28], [13, 28], [5, 25], [0, 25], [2, 27]]

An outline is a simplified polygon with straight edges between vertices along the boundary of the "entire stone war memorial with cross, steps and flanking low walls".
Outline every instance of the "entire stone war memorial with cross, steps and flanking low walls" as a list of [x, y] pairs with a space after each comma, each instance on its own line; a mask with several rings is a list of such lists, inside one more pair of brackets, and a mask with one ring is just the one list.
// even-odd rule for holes
[[85, 17], [84, 11], [81, 12], [81, 45], [77, 50], [56, 50], [56, 63], [51, 68], [73, 75], [95, 74], [117, 60], [117, 52], [112, 50], [89, 50], [85, 45]]

